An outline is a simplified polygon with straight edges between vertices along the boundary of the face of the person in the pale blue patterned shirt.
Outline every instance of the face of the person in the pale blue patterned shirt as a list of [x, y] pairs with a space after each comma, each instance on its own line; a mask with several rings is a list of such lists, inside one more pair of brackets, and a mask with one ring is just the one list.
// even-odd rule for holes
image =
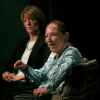
[[59, 30], [58, 26], [51, 23], [46, 27], [45, 39], [52, 52], [59, 53], [65, 44], [65, 35]]

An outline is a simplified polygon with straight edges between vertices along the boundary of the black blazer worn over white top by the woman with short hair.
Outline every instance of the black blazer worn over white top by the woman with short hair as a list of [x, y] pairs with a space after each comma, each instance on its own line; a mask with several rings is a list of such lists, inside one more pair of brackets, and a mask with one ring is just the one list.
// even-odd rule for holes
[[[13, 64], [18, 59], [21, 59], [21, 57], [25, 51], [27, 42], [28, 42], [28, 39], [25, 39], [17, 46], [13, 56], [11, 57], [11, 59], [9, 60], [7, 65], [5, 66], [5, 67], [7, 67], [6, 70], [8, 70], [8, 71], [13, 70]], [[32, 48], [32, 52], [28, 59], [27, 64], [29, 66], [32, 66], [32, 67], [38, 69], [44, 65], [49, 54], [50, 54], [50, 50], [49, 50], [47, 44], [45, 43], [44, 38], [42, 36], [39, 36], [35, 45]]]

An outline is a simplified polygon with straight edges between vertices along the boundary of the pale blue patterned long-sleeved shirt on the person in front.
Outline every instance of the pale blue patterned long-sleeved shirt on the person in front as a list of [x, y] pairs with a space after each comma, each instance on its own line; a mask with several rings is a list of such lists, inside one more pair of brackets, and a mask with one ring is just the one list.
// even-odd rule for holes
[[23, 72], [39, 87], [47, 87], [49, 92], [52, 92], [64, 80], [66, 74], [71, 74], [71, 69], [80, 63], [80, 59], [79, 50], [69, 46], [64, 48], [59, 56], [52, 52], [41, 69], [33, 69], [28, 66]]

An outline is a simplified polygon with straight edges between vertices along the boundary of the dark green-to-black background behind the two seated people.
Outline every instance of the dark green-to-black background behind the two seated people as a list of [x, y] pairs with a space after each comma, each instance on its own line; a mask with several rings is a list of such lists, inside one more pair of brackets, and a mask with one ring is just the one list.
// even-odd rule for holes
[[20, 12], [25, 5], [39, 6], [47, 21], [60, 19], [66, 23], [72, 43], [88, 59], [98, 59], [99, 6], [94, 2], [69, 2], [67, 0], [0, 0], [0, 70], [23, 38], [24, 30]]

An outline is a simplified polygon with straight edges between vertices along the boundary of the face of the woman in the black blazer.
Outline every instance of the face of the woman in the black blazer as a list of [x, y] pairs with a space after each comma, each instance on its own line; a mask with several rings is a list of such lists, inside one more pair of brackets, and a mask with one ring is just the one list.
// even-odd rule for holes
[[36, 33], [39, 28], [39, 24], [37, 20], [32, 20], [30, 16], [24, 16], [24, 27], [26, 32], [32, 34]]

